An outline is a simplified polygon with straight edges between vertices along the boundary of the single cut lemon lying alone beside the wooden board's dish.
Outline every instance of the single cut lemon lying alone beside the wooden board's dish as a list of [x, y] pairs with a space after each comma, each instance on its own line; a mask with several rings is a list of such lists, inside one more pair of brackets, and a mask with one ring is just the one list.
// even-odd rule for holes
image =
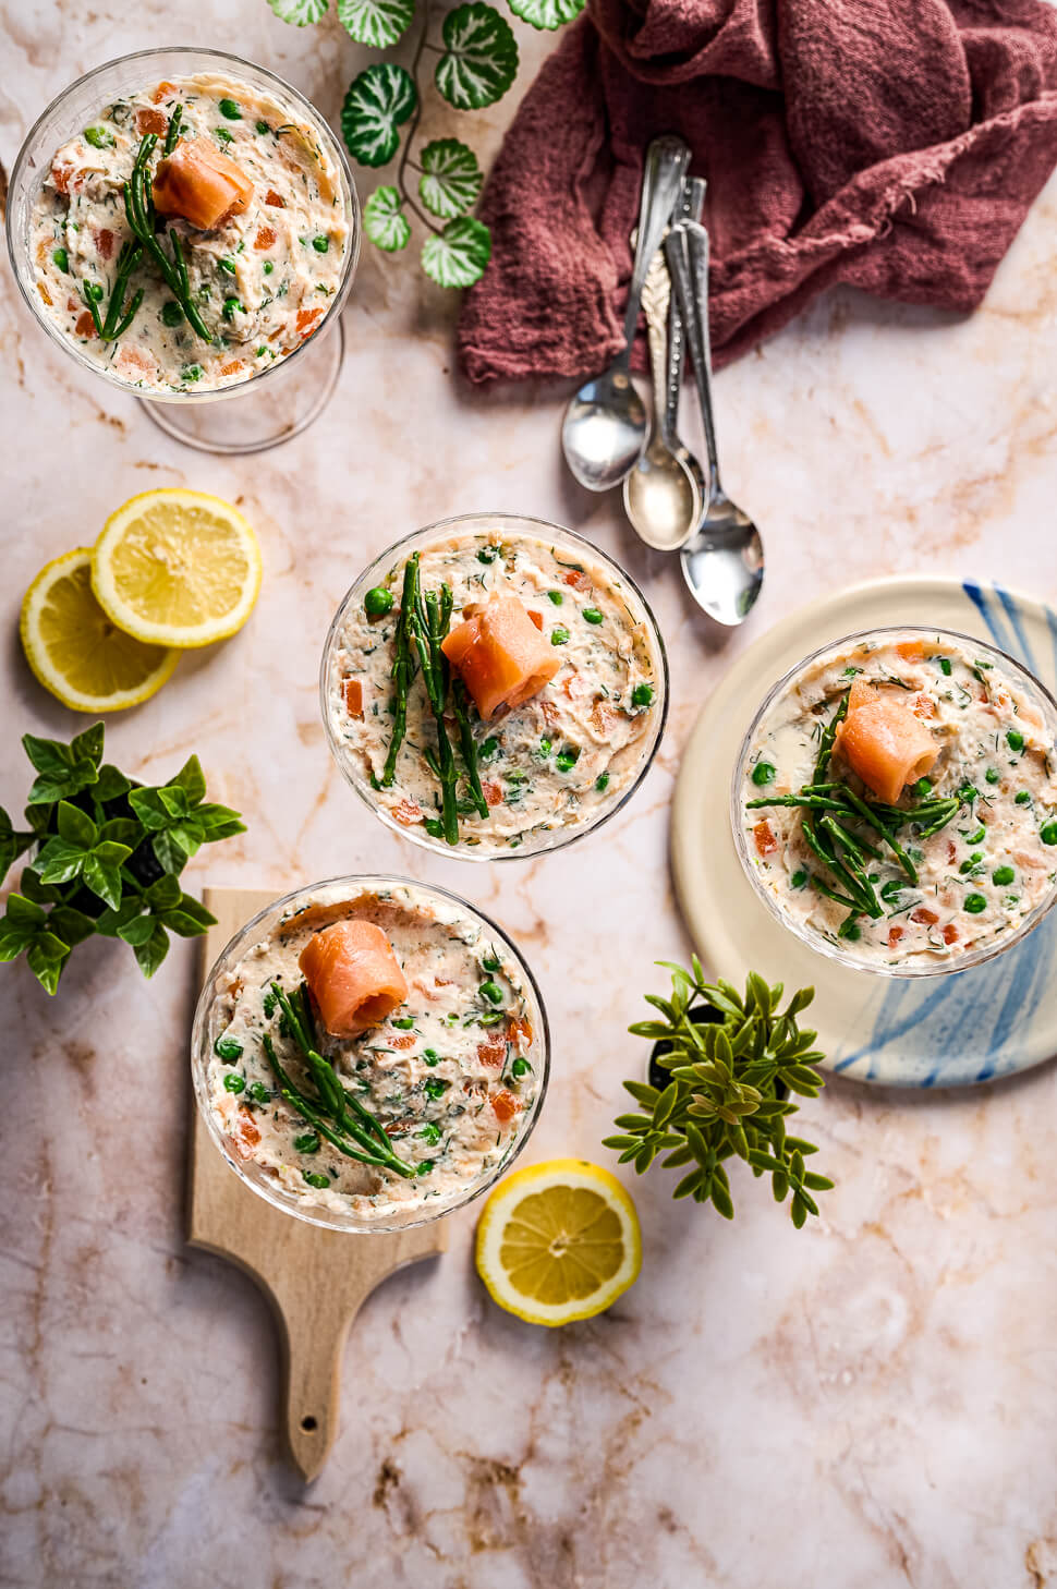
[[515, 1171], [477, 1222], [477, 1273], [501, 1308], [529, 1324], [591, 1319], [641, 1266], [634, 1203], [609, 1170], [585, 1158]]

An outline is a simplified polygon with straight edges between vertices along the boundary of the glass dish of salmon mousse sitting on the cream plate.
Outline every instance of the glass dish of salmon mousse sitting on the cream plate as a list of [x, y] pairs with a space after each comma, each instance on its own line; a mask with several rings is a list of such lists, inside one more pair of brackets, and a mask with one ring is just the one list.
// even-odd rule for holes
[[990, 960], [1057, 899], [1057, 702], [947, 629], [850, 634], [780, 679], [731, 785], [771, 912], [846, 966], [919, 977]]

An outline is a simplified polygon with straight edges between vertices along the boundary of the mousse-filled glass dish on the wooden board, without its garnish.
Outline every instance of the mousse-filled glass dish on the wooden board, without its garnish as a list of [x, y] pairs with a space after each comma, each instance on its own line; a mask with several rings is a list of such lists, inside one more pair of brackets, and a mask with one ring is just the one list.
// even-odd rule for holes
[[[304, 1079], [310, 1071], [302, 1076], [296, 1069], [289, 1025], [269, 988], [277, 980], [288, 993], [294, 992], [300, 977], [296, 949], [313, 939], [318, 947], [321, 926], [372, 912], [385, 920], [386, 910], [404, 928], [410, 920], [413, 930], [432, 933], [443, 953], [455, 947], [456, 958], [477, 957], [485, 966], [480, 976], [490, 980], [478, 987], [474, 971], [469, 979], [436, 977], [434, 985], [432, 976], [418, 974], [426, 961], [407, 950], [404, 939], [407, 998], [391, 1020], [381, 1017], [342, 1046], [323, 1031], [313, 999], [318, 1047], [334, 1061], [347, 1104], [358, 1109], [356, 1098], [366, 1098], [391, 1133], [393, 1150], [416, 1170], [405, 1179], [389, 1171], [364, 1171], [353, 1163], [354, 1155], [331, 1152], [334, 1181], [327, 1181], [327, 1174], [315, 1174], [329, 1168], [332, 1138], [326, 1136], [326, 1123], [345, 1128], [334, 1125], [318, 1098], [321, 1117], [305, 1119], [273, 1079], [278, 1050], [286, 1082], [302, 1087], [305, 1100], [315, 1092], [315, 1082]], [[393, 942], [401, 944], [399, 926]], [[289, 965], [277, 971], [277, 958]], [[312, 976], [307, 966], [305, 976]], [[505, 1003], [498, 1011], [490, 1001], [499, 992]], [[442, 1017], [445, 1001], [458, 1007], [459, 999], [470, 1001], [469, 1015], [463, 1011], [458, 1019]], [[242, 1041], [232, 1041], [232, 1034]], [[267, 1044], [272, 1057], [265, 1061]], [[550, 1031], [532, 972], [502, 928], [480, 910], [443, 888], [410, 879], [337, 877], [285, 895], [232, 938], [199, 998], [191, 1071], [196, 1101], [216, 1147], [273, 1208], [327, 1230], [407, 1230], [474, 1201], [521, 1152], [547, 1092]], [[246, 1082], [257, 1074], [264, 1081]], [[505, 1100], [502, 1109], [496, 1100]], [[428, 1123], [428, 1117], [442, 1123]], [[512, 1130], [504, 1130], [505, 1125]], [[313, 1128], [315, 1146], [297, 1135], [312, 1136]]]

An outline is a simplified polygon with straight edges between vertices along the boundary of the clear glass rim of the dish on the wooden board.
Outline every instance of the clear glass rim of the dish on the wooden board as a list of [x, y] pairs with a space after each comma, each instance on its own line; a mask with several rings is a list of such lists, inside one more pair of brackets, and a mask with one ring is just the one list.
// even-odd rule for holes
[[[211, 990], [218, 974], [223, 969], [229, 969], [235, 953], [242, 953], [250, 947], [253, 934], [270, 915], [273, 915], [275, 910], [281, 910], [283, 907], [292, 904], [296, 899], [300, 899], [305, 895], [316, 893], [323, 888], [345, 888], [345, 887], [348, 887], [350, 891], [351, 890], [369, 891], [377, 887], [402, 887], [410, 890], [420, 890], [424, 895], [439, 896], [445, 903], [458, 906], [461, 912], [469, 915], [472, 920], [482, 923], [490, 933], [494, 933], [507, 945], [518, 968], [520, 976], [525, 979], [531, 999], [536, 1004], [536, 1011], [539, 1012], [539, 1030], [534, 1034], [534, 1041], [539, 1042], [542, 1052], [542, 1065], [540, 1065], [540, 1074], [537, 1077], [537, 1088], [536, 1088], [536, 1096], [532, 1100], [531, 1114], [525, 1123], [525, 1128], [520, 1131], [518, 1138], [510, 1144], [510, 1150], [504, 1155], [504, 1158], [498, 1165], [494, 1165], [485, 1176], [482, 1176], [480, 1181], [472, 1182], [463, 1195], [459, 1195], [450, 1203], [445, 1203], [443, 1208], [418, 1211], [413, 1219], [397, 1217], [389, 1222], [383, 1216], [380, 1219], [367, 1220], [367, 1219], [358, 1219], [354, 1214], [351, 1214], [351, 1211], [339, 1212], [339, 1211], [323, 1209], [315, 1204], [299, 1208], [294, 1195], [283, 1192], [278, 1182], [272, 1182], [264, 1174], [261, 1177], [256, 1177], [248, 1173], [246, 1163], [254, 1163], [254, 1160], [243, 1162], [230, 1149], [229, 1141], [213, 1111], [208, 1092], [208, 1047], [210, 1047], [208, 1017], [215, 1004], [215, 993]], [[451, 888], [443, 888], [440, 883], [432, 883], [432, 882], [424, 883], [415, 877], [404, 877], [399, 872], [353, 872], [340, 877], [326, 877], [321, 879], [319, 882], [302, 883], [302, 887], [292, 888], [289, 893], [278, 895], [275, 899], [270, 899], [269, 904], [261, 906], [261, 909], [256, 910], [248, 922], [245, 922], [235, 933], [232, 933], [232, 936], [227, 939], [221, 952], [216, 955], [216, 960], [207, 971], [205, 977], [202, 979], [202, 990], [194, 1006], [194, 1017], [191, 1025], [191, 1081], [194, 1087], [196, 1108], [202, 1119], [202, 1123], [207, 1128], [210, 1139], [213, 1141], [223, 1158], [227, 1162], [229, 1168], [235, 1171], [242, 1184], [250, 1187], [251, 1192], [261, 1197], [272, 1208], [277, 1208], [280, 1209], [280, 1212], [289, 1214], [294, 1219], [300, 1219], [307, 1225], [315, 1225], [321, 1230], [347, 1231], [350, 1235], [364, 1235], [364, 1236], [385, 1235], [401, 1230], [415, 1230], [420, 1225], [431, 1225], [436, 1219], [445, 1219], [448, 1214], [455, 1214], [456, 1209], [466, 1208], [467, 1203], [474, 1203], [478, 1197], [483, 1197], [483, 1193], [488, 1192], [496, 1184], [496, 1181], [509, 1171], [515, 1158], [518, 1158], [518, 1155], [525, 1149], [525, 1144], [528, 1142], [529, 1136], [536, 1130], [536, 1122], [539, 1120], [540, 1112], [544, 1109], [544, 1100], [547, 1096], [547, 1087], [550, 1084], [550, 1058], [552, 1058], [552, 1039], [550, 1039], [550, 1020], [547, 1017], [547, 1006], [544, 1003], [539, 982], [536, 980], [536, 976], [532, 974], [532, 969], [528, 965], [525, 955], [513, 942], [510, 933], [507, 933], [504, 926], [501, 926], [490, 915], [486, 915], [485, 910], [478, 909], [478, 906], [475, 904], [470, 904], [469, 899], [464, 899], [461, 895], [456, 895]], [[399, 1212], [399, 1204], [394, 1204], [394, 1209]]]

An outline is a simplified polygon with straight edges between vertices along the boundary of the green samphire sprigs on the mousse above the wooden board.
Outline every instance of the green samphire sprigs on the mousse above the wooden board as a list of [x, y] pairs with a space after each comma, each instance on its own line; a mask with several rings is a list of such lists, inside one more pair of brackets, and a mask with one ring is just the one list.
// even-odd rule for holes
[[418, 1174], [415, 1166], [393, 1152], [385, 1127], [358, 1098], [345, 1092], [337, 1071], [319, 1052], [305, 984], [288, 995], [278, 982], [272, 982], [272, 993], [280, 1011], [280, 1030], [289, 1034], [300, 1050], [316, 1088], [316, 1096], [308, 1098], [304, 1088], [294, 1084], [275, 1052], [272, 1034], [265, 1031], [264, 1054], [275, 1073], [280, 1095], [347, 1158], [356, 1158], [361, 1165], [372, 1165], [377, 1170], [391, 1170], [405, 1181], [413, 1179]]

